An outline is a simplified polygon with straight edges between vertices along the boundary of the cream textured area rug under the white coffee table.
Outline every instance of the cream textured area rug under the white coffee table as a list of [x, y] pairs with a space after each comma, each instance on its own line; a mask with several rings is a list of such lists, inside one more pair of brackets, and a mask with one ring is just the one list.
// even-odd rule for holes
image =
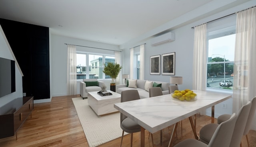
[[122, 136], [120, 113], [97, 116], [88, 105], [87, 99], [72, 98], [72, 101], [90, 147], [96, 147]]

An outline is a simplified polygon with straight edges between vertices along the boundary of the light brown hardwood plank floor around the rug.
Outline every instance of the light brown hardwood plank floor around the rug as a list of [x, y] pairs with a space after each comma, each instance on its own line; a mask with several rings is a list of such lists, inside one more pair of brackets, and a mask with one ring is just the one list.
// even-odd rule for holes
[[[79, 95], [58, 96], [53, 97], [52, 102], [34, 104], [32, 118], [28, 117], [18, 130], [18, 140], [15, 136], [0, 139], [0, 147], [89, 147], [71, 99], [74, 97]], [[197, 115], [196, 120], [199, 135], [202, 126], [210, 123], [210, 117]], [[164, 129], [163, 145], [160, 144], [159, 131], [154, 133], [154, 147], [168, 146], [172, 127]], [[174, 145], [184, 139], [194, 138], [188, 119], [182, 121], [182, 128], [182, 137], [180, 125], [177, 128], [178, 139], [175, 136]], [[147, 131], [145, 134], [145, 147], [152, 147], [151, 137], [148, 139]], [[248, 137], [250, 147], [256, 147], [256, 131], [251, 130]], [[120, 141], [117, 138], [98, 147], [119, 147]], [[245, 136], [242, 145], [248, 147]], [[130, 147], [130, 134], [124, 136], [122, 147]], [[133, 135], [133, 147], [140, 147], [140, 132]]]

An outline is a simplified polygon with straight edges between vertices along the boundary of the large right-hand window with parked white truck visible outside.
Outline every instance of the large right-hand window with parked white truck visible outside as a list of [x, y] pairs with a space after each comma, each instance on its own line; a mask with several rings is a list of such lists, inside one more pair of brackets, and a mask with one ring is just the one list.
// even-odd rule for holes
[[207, 88], [233, 89], [234, 30], [208, 35]]

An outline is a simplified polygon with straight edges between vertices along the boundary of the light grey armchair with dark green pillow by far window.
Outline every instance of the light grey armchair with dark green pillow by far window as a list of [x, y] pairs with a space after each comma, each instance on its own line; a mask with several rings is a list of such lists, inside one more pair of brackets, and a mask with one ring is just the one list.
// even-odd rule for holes
[[[86, 87], [86, 83], [85, 82], [98, 82], [98, 86], [88, 86]], [[97, 80], [96, 78], [92, 78], [92, 79], [83, 79], [83, 82], [80, 82], [80, 96], [82, 96], [82, 98], [87, 98], [88, 93], [87, 92], [92, 92], [92, 91], [100, 91], [102, 85], [104, 84], [104, 82]]]

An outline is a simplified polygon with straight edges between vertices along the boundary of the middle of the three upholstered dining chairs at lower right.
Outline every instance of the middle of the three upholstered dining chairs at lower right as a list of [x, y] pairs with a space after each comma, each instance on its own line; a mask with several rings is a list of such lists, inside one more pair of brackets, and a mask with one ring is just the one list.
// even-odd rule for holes
[[[239, 147], [240, 141], [241, 141], [243, 133], [244, 133], [244, 128], [245, 128], [245, 125], [247, 122], [244, 120], [248, 119], [251, 105], [252, 105], [252, 103], [248, 102], [246, 105], [244, 105], [244, 106], [242, 106], [242, 108], [240, 108], [240, 110], [237, 114], [237, 120], [236, 120], [236, 124], [234, 127], [235, 129], [232, 134], [232, 138], [231, 138], [229, 147]], [[222, 123], [224, 123], [224, 122], [222, 122]], [[221, 125], [222, 123], [220, 123], [219, 125]], [[216, 123], [210, 123], [210, 124], [207, 124], [204, 127], [202, 127], [202, 129], [200, 130], [200, 141], [208, 144], [210, 142], [210, 140], [212, 139], [212, 136], [217, 127], [218, 127], [218, 124], [216, 124]]]

